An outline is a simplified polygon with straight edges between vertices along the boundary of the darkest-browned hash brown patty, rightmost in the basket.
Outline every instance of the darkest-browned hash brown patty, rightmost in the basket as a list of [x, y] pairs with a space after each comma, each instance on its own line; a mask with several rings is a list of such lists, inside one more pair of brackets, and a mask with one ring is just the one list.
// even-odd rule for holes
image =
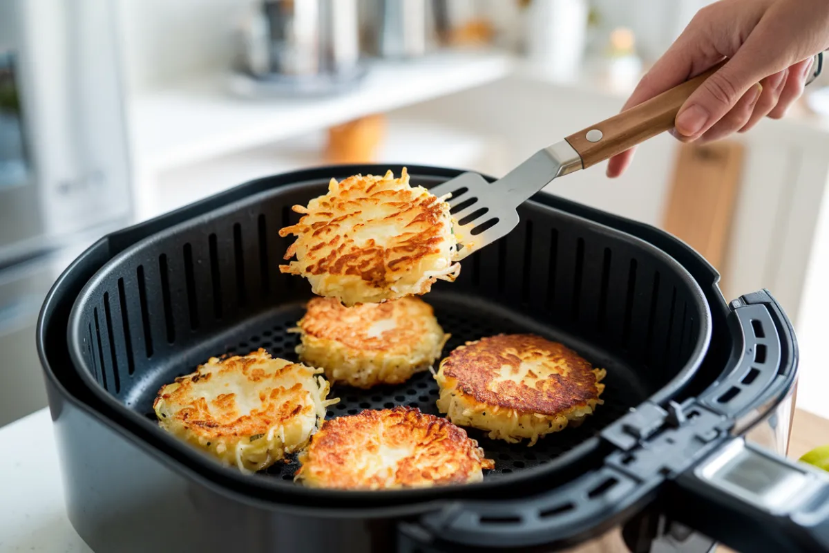
[[440, 362], [438, 408], [462, 426], [510, 442], [580, 424], [604, 390], [594, 369], [568, 347], [531, 334], [468, 342]]

